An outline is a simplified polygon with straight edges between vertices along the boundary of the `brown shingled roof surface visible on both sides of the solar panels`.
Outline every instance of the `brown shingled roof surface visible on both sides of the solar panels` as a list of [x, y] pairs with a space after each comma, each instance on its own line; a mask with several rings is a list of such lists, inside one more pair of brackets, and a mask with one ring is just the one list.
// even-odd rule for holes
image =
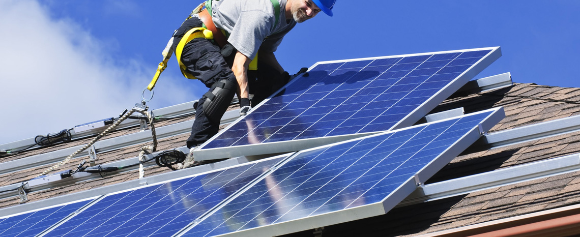
[[[580, 114], [578, 108], [580, 106], [580, 89], [514, 83], [513, 86], [486, 92], [457, 93], [452, 98], [441, 103], [432, 112], [463, 107], [465, 112], [469, 113], [499, 106], [504, 108], [506, 117], [491, 129], [490, 133], [578, 115]], [[155, 126], [161, 127], [190, 119], [193, 119], [193, 117], [170, 119], [155, 123]], [[139, 132], [139, 127], [118, 130], [102, 138], [102, 140], [136, 132]], [[188, 136], [189, 133], [185, 133], [160, 139], [158, 150], [181, 147]], [[17, 155], [3, 157], [0, 162], [14, 161], [36, 154], [83, 145], [91, 139], [85, 138], [52, 147], [21, 152]], [[580, 132], [572, 132], [502, 147], [490, 147], [490, 145], [476, 143], [430, 178], [427, 184], [564, 155], [578, 154], [580, 153], [579, 141]], [[137, 156], [142, 145], [131, 145], [97, 154], [99, 158], [97, 164], [133, 158]], [[77, 157], [67, 165], [60, 167], [59, 170], [75, 169], [82, 159], [87, 158], [86, 156]], [[30, 180], [50, 166], [52, 164], [1, 174], [0, 187]], [[171, 170], [165, 167], [151, 166], [146, 168], [146, 176], [167, 172], [171, 172]], [[580, 191], [578, 191], [580, 177], [577, 177], [578, 173], [560, 174], [503, 187], [485, 189], [467, 195], [397, 207], [382, 216], [325, 227], [324, 236], [414, 236], [506, 217], [520, 216], [540, 210], [575, 205], [580, 203]], [[31, 192], [28, 194], [28, 198], [31, 202], [34, 202], [35, 200], [55, 198], [64, 194], [136, 180], [138, 172], [131, 170], [103, 174], [103, 176], [79, 183]], [[18, 196], [0, 199], [0, 208], [15, 205], [19, 205]], [[312, 232], [298, 232], [290, 236], [311, 235]]]

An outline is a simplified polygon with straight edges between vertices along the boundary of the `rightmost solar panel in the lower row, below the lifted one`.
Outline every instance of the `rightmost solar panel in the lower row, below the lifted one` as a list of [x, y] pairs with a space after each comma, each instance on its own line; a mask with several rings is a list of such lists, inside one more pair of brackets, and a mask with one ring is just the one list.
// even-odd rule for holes
[[299, 152], [183, 236], [273, 236], [385, 214], [503, 116], [488, 110]]

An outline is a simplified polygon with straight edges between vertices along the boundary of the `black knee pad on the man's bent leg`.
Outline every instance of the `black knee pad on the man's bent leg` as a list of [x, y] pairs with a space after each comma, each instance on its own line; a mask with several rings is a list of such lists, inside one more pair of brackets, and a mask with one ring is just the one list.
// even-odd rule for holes
[[231, 104], [237, 85], [227, 79], [214, 82], [208, 92], [203, 106], [204, 114], [213, 123], [219, 123], [227, 107]]

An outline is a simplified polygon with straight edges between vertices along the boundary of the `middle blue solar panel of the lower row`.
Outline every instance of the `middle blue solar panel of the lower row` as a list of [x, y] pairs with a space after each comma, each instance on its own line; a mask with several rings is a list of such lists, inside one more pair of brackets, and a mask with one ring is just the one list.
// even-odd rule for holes
[[281, 159], [106, 196], [46, 236], [171, 236]]

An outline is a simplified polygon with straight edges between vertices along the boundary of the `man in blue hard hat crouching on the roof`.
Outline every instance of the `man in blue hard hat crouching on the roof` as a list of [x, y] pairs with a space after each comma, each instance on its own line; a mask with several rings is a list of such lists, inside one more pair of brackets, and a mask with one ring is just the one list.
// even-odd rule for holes
[[[332, 16], [335, 2], [336, 0], [213, 0], [209, 9], [211, 16], [202, 16], [201, 12], [184, 21], [174, 34], [173, 49], [177, 57], [179, 55], [175, 49], [178, 42], [192, 28], [204, 25], [212, 30], [213, 21], [218, 31], [223, 30], [225, 35], [229, 35], [226, 45], [218, 46], [216, 33], [221, 33], [214, 31], [215, 41], [194, 38], [183, 46], [180, 60], [186, 68], [184, 71], [209, 88], [197, 104], [191, 136], [187, 139], [187, 147], [191, 151], [218, 133], [220, 120], [234, 94], [240, 99], [240, 114], [245, 115], [249, 111], [249, 85], [252, 81], [248, 81], [248, 68], [256, 54], [259, 54], [259, 67], [270, 70], [274, 78], [288, 78], [288, 73], [284, 72], [274, 56], [282, 38], [296, 23], [311, 19], [321, 11]], [[276, 9], [279, 9], [278, 13]], [[256, 104], [255, 102], [257, 101], [252, 104]], [[186, 162], [193, 159], [191, 151]]]

